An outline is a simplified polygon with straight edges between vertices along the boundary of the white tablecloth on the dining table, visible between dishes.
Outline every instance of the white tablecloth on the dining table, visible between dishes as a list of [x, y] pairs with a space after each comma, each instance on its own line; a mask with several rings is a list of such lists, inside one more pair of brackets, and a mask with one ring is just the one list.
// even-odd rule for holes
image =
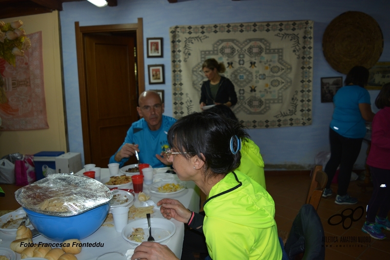
[[[76, 173], [81, 175], [84, 170]], [[108, 168], [101, 169], [101, 179], [108, 177], [109, 171]], [[176, 176], [175, 176], [176, 177]], [[176, 177], [177, 178], [177, 177]], [[193, 181], [187, 181], [187, 189], [183, 192], [171, 195], [170, 198], [179, 200], [186, 206], [188, 209], [199, 212], [199, 189], [195, 186]], [[133, 188], [133, 187], [131, 187]], [[145, 193], [149, 193], [148, 186], [144, 185], [143, 190]], [[158, 202], [163, 197], [158, 195], [151, 194], [151, 199], [155, 202]], [[140, 207], [138, 201], [138, 195], [136, 194], [135, 203], [136, 207]], [[154, 218], [163, 218], [158, 209], [155, 209], [155, 213], [152, 214]], [[133, 220], [129, 220], [133, 221]], [[163, 244], [166, 244], [180, 259], [181, 250], [184, 239], [184, 224], [176, 220], [171, 220], [176, 225], [176, 233], [168, 240], [163, 241]], [[113, 222], [114, 223], [114, 222]], [[153, 228], [153, 227], [152, 227]], [[0, 247], [9, 248], [10, 243], [15, 240], [16, 235], [7, 235], [0, 232]], [[39, 242], [54, 242], [48, 240], [43, 236], [38, 236], [33, 239], [34, 243]], [[128, 249], [134, 248], [136, 245], [130, 244], [122, 238], [121, 233], [115, 230], [115, 227], [101, 226], [94, 234], [81, 240], [82, 243], [95, 243], [100, 242], [104, 244], [102, 247], [83, 247], [81, 253], [76, 255], [78, 260], [125, 260], [125, 253]], [[20, 254], [17, 254], [17, 259], [20, 259]]]

